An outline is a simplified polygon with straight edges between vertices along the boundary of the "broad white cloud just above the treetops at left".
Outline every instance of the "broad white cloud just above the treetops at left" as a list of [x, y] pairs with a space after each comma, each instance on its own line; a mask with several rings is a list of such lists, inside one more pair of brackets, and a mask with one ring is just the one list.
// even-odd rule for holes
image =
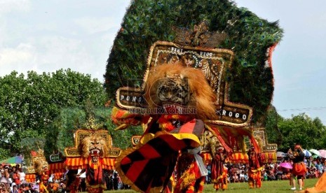
[[94, 57], [81, 41], [62, 36], [45, 36], [21, 43], [16, 48], [0, 50], [0, 76], [15, 70], [53, 72], [58, 69], [72, 69], [81, 73], [90, 73], [98, 68]]

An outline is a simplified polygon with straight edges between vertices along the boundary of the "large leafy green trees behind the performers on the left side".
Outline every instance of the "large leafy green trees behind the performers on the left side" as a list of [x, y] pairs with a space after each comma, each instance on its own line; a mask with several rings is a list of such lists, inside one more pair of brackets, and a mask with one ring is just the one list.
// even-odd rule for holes
[[114, 145], [126, 148], [131, 143], [126, 136], [135, 132], [114, 133], [110, 108], [104, 107], [107, 94], [99, 80], [71, 69], [29, 71], [27, 76], [13, 71], [0, 77], [0, 160], [25, 152], [22, 147], [34, 143], [28, 138], [45, 138], [46, 155], [63, 152], [64, 145], [74, 146], [73, 131], [85, 122], [87, 101], [97, 108], [97, 122], [117, 138]]

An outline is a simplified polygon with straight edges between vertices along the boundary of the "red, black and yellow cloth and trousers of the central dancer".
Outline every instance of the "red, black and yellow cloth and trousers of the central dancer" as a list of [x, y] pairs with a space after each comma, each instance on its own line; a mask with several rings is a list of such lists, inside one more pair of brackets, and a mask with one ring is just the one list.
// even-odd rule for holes
[[[191, 120], [170, 132], [158, 131], [152, 137], [146, 134], [136, 148], [123, 152], [117, 158], [116, 169], [123, 182], [142, 192], [201, 191], [205, 176], [193, 157], [199, 156], [196, 148], [200, 145], [198, 137], [203, 132], [203, 125], [201, 120]], [[191, 148], [194, 148], [193, 152], [184, 152], [178, 159], [179, 150], [188, 152]], [[197, 160], [203, 162], [201, 157]], [[184, 170], [179, 173], [176, 187], [172, 187], [170, 177], [177, 162], [182, 164], [179, 168]]]

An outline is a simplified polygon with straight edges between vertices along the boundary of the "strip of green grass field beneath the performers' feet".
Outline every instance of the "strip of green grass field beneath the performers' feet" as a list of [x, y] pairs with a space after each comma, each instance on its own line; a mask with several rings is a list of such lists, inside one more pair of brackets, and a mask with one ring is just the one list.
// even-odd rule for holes
[[[304, 180], [304, 189], [307, 187], [313, 187], [315, 183], [317, 183], [318, 179], [306, 179]], [[299, 187], [297, 185], [297, 190]], [[123, 193], [123, 192], [135, 192], [133, 190], [111, 190], [106, 191], [110, 193]], [[247, 183], [230, 183], [228, 185], [228, 190], [226, 191], [215, 191], [213, 189], [212, 184], [205, 185], [204, 192], [228, 192], [228, 193], [258, 193], [258, 192], [268, 192], [268, 193], [276, 193], [276, 192], [294, 192], [294, 190], [290, 190], [289, 180], [277, 180], [277, 181], [263, 181], [262, 187], [259, 189], [249, 189]]]

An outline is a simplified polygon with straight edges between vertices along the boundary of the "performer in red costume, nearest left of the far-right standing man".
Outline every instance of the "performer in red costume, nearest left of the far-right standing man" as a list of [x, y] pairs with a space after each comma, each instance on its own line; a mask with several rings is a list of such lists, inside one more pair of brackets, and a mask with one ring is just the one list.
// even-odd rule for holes
[[254, 186], [262, 187], [262, 169], [260, 165], [259, 151], [256, 152], [254, 146], [251, 146], [247, 152], [249, 158], [249, 169], [248, 169], [248, 184], [250, 188]]

